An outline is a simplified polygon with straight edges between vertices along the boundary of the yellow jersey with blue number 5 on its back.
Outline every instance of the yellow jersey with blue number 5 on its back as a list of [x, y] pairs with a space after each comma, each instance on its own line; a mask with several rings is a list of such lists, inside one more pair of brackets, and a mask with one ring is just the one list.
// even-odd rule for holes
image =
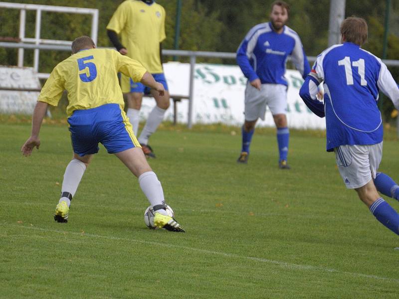
[[147, 70], [143, 65], [111, 49], [85, 49], [60, 62], [44, 84], [38, 101], [57, 106], [68, 92], [66, 113], [105, 104], [124, 107], [118, 72], [139, 82]]

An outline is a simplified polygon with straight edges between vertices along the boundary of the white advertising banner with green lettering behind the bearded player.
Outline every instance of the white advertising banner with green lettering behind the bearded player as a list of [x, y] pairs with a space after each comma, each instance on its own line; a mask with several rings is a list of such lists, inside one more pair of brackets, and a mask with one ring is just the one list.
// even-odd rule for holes
[[[190, 64], [168, 62], [164, 64], [165, 76], [171, 95], [189, 95]], [[287, 119], [290, 128], [325, 129], [325, 120], [312, 114], [299, 97], [303, 83], [302, 76], [296, 70], [287, 70], [288, 81]], [[246, 78], [236, 65], [198, 63], [194, 78], [193, 124], [223, 123], [241, 126], [244, 122], [244, 91]], [[177, 121], [188, 123], [188, 100], [177, 103]], [[141, 120], [155, 106], [153, 98], [143, 100]], [[173, 104], [166, 113], [166, 119], [173, 121]], [[265, 120], [258, 120], [257, 126], [274, 127], [272, 115], [266, 111]]]

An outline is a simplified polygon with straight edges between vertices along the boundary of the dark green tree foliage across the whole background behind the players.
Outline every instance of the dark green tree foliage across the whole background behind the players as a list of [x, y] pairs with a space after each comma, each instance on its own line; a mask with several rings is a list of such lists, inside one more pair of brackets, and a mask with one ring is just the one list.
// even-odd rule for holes
[[[106, 34], [106, 25], [123, 0], [7, 0], [8, 2], [45, 5], [87, 7], [99, 9], [98, 46], [111, 46]], [[178, 0], [157, 0], [167, 12], [167, 39], [164, 49], [174, 48], [176, 5]], [[235, 52], [248, 30], [269, 20], [273, 0], [182, 0], [181, 31], [179, 48], [195, 51]], [[330, 0], [295, 0], [291, 5], [288, 26], [301, 37], [307, 55], [315, 56], [327, 47]], [[366, 50], [381, 57], [383, 55], [384, 18], [386, 1], [346, 1], [346, 16], [364, 17], [369, 24], [369, 41]], [[392, 1], [390, 34], [388, 37], [388, 59], [399, 59], [399, 1]], [[35, 12], [26, 12], [26, 34], [34, 37]], [[73, 40], [80, 35], [90, 35], [91, 16], [81, 14], [42, 12], [41, 37], [47, 39]], [[0, 8], [0, 36], [17, 37], [19, 32], [19, 10]], [[41, 51], [40, 72], [50, 72], [61, 60], [65, 51]], [[171, 59], [171, 57], [169, 57]], [[181, 57], [180, 61], [185, 61]], [[16, 65], [17, 50], [0, 48], [0, 64]], [[33, 50], [25, 50], [24, 65], [33, 64]], [[200, 60], [200, 59], [199, 59]], [[203, 61], [203, 60], [200, 60]], [[220, 59], [206, 61], [220, 62]], [[227, 61], [234, 63], [234, 61]], [[398, 68], [391, 68], [399, 79]], [[390, 101], [387, 101], [390, 102]], [[387, 111], [392, 105], [387, 104]], [[388, 112], [387, 112], [388, 115]]]

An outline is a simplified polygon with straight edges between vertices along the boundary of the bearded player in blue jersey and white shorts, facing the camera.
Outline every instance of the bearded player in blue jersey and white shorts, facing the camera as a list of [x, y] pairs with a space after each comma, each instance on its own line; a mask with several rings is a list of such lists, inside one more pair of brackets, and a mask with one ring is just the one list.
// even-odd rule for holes
[[265, 119], [269, 107], [277, 127], [279, 167], [287, 164], [289, 130], [287, 125], [287, 80], [284, 78], [286, 62], [291, 56], [303, 78], [310, 71], [298, 34], [285, 25], [289, 5], [281, 0], [271, 5], [270, 22], [254, 26], [237, 50], [237, 63], [248, 78], [245, 89], [245, 122], [242, 126], [242, 148], [237, 159], [247, 163], [249, 146], [258, 118]]

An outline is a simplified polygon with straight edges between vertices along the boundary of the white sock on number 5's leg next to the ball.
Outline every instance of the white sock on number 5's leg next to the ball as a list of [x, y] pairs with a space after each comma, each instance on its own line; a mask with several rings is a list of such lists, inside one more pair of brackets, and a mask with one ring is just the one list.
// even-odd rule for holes
[[[153, 207], [162, 205], [165, 206], [164, 191], [162, 190], [161, 182], [158, 180], [154, 171], [147, 171], [139, 176], [139, 184], [143, 193], [147, 196], [148, 201]], [[158, 209], [163, 215], [167, 215], [165, 209]]]

